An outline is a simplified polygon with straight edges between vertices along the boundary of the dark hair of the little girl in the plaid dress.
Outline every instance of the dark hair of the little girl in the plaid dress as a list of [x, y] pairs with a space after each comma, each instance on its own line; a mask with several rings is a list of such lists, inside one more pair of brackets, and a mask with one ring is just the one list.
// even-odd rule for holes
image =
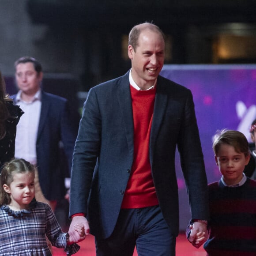
[[0, 205], [11, 203], [11, 196], [4, 191], [4, 184], [10, 186], [16, 173], [35, 173], [35, 167], [23, 158], [12, 159], [6, 162], [0, 175]]

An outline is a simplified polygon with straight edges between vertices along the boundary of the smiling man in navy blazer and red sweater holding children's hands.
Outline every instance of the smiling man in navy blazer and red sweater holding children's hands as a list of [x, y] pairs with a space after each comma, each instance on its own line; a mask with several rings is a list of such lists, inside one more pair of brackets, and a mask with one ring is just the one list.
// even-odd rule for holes
[[[97, 256], [175, 255], [178, 148], [194, 232], [209, 217], [207, 177], [191, 91], [159, 75], [164, 35], [152, 23], [129, 34], [132, 69], [90, 89], [75, 143], [69, 233], [83, 223]], [[89, 227], [90, 224], [90, 227]], [[194, 236], [195, 233], [192, 234]]]

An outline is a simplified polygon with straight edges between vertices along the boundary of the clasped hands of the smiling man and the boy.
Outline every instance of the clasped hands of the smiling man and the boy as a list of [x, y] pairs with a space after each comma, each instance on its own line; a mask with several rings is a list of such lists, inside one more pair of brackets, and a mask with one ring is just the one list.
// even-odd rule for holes
[[208, 239], [207, 224], [204, 222], [194, 222], [189, 225], [191, 233], [189, 241], [196, 248], [199, 248]]

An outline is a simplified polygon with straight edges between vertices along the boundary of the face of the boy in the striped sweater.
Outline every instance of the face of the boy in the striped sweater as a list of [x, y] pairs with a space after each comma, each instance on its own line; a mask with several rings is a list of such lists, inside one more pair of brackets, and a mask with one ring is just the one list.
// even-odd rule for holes
[[237, 153], [233, 146], [222, 144], [215, 161], [227, 185], [234, 185], [241, 181], [245, 166], [250, 160], [250, 155]]

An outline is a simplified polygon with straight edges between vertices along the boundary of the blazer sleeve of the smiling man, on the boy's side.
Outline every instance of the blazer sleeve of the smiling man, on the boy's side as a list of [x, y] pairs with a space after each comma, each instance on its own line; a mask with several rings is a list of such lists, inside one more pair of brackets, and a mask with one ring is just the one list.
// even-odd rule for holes
[[188, 90], [178, 139], [181, 168], [187, 186], [192, 219], [209, 219], [208, 186], [192, 93]]

